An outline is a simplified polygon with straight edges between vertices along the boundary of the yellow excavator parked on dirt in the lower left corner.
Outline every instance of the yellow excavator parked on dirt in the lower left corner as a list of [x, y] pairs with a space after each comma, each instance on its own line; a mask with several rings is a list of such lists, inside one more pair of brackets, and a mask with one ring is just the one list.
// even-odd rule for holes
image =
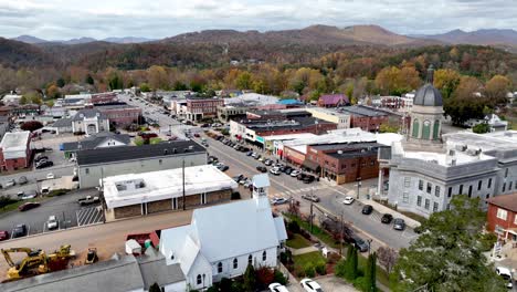
[[[68, 259], [75, 255], [70, 246], [62, 246], [49, 255], [42, 250], [29, 248], [2, 249], [1, 252], [11, 267], [8, 270], [8, 281], [66, 269]], [[18, 252], [24, 252], [27, 257], [21, 262], [15, 263], [10, 253]]]

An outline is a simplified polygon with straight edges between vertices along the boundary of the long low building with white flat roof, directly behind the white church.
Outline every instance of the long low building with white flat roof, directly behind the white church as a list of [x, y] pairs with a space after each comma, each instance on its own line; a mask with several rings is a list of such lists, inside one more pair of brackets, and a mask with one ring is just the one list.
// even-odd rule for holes
[[[184, 205], [192, 209], [229, 201], [239, 185], [214, 166], [184, 168]], [[129, 174], [103, 179], [106, 220], [183, 208], [183, 170]]]

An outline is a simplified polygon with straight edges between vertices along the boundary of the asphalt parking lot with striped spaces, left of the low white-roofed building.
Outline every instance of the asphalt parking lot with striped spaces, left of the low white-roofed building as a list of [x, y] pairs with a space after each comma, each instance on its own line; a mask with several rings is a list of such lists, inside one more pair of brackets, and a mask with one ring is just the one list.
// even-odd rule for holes
[[85, 196], [95, 196], [96, 190], [77, 190], [60, 197], [49, 198], [42, 201], [41, 206], [24, 212], [12, 211], [0, 215], [0, 230], [12, 230], [17, 225], [25, 225], [28, 236], [41, 232], [52, 232], [46, 227], [46, 221], [50, 216], [55, 216], [57, 219], [57, 228], [67, 229], [77, 226], [86, 226], [104, 222], [104, 215], [99, 205], [81, 207], [77, 199]]

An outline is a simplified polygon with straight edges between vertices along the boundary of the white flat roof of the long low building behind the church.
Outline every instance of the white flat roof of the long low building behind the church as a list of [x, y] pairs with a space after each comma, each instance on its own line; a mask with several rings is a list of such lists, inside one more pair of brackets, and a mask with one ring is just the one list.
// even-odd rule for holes
[[[182, 169], [128, 174], [103, 179], [104, 198], [108, 208], [180, 198], [183, 196]], [[225, 189], [239, 185], [212, 165], [184, 168], [187, 196]]]

